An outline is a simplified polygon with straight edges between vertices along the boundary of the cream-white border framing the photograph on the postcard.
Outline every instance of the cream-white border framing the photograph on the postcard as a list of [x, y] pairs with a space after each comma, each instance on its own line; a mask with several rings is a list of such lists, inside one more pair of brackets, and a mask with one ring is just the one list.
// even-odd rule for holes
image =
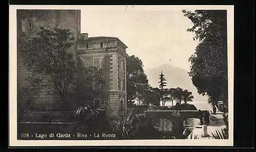
[[229, 139], [197, 140], [17, 140], [17, 9], [122, 10], [126, 6], [17, 6], [9, 9], [9, 146], [233, 146], [233, 6], [135, 6], [134, 10], [227, 10]]

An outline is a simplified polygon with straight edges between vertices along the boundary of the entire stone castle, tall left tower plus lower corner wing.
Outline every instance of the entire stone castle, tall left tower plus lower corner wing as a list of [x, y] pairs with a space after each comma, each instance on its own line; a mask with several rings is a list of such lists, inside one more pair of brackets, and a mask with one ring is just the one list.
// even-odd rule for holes
[[[94, 99], [94, 105], [104, 107], [110, 117], [119, 117], [126, 113], [127, 47], [117, 37], [88, 37], [87, 33], [80, 34], [80, 20], [80, 10], [17, 10], [17, 45], [24, 34], [32, 37], [40, 27], [70, 29], [76, 40], [76, 45], [70, 51], [82, 61], [83, 67], [94, 66], [103, 71], [104, 95]], [[25, 80], [30, 74], [17, 46], [17, 107], [54, 108], [59, 96], [48, 94], [54, 93], [53, 89], [43, 89], [39, 95], [22, 92], [23, 88], [30, 86]]]

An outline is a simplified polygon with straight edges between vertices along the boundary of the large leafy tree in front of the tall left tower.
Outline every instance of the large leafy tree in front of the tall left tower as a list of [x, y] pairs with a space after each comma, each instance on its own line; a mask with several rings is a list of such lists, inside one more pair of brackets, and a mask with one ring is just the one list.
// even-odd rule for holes
[[60, 99], [67, 101], [77, 72], [74, 55], [69, 52], [74, 38], [69, 30], [41, 28], [35, 37], [20, 42], [25, 66], [32, 75], [27, 79], [34, 91], [44, 87], [57, 90]]

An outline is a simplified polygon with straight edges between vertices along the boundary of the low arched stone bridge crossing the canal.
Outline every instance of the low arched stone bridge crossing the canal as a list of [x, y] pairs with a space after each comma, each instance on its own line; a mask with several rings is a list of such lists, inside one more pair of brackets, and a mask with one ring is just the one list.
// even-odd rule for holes
[[152, 110], [145, 112], [145, 118], [152, 122], [152, 119], [168, 119], [172, 123], [174, 133], [180, 135], [183, 132], [183, 121], [187, 118], [198, 118], [199, 112], [197, 110]]

